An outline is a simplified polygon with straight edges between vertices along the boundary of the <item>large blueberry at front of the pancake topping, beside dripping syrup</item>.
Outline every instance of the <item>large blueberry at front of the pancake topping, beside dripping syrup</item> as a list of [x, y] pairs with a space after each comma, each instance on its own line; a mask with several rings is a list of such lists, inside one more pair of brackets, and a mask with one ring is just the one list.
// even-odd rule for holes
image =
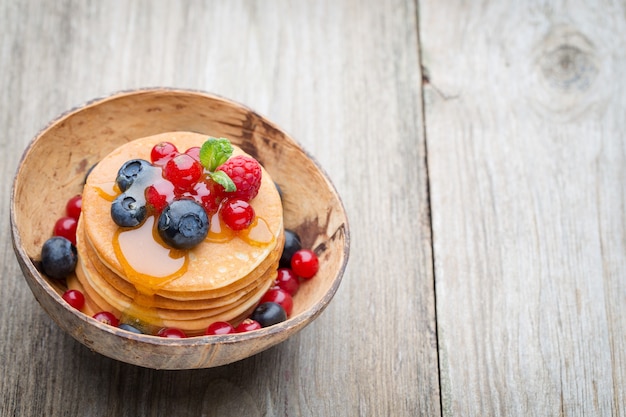
[[209, 218], [201, 205], [193, 200], [175, 200], [161, 215], [159, 236], [176, 249], [189, 249], [202, 242], [209, 233]]

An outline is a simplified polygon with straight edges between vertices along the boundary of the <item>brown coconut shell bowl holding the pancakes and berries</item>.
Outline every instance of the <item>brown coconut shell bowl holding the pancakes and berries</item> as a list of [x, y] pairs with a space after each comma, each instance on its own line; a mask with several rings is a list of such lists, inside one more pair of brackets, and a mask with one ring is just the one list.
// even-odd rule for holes
[[[226, 137], [254, 156], [282, 192], [284, 226], [319, 258], [316, 276], [294, 296], [290, 317], [246, 333], [171, 339], [136, 334], [71, 307], [64, 280], [42, 272], [41, 249], [80, 194], [85, 176], [118, 146], [171, 131]], [[198, 369], [255, 355], [302, 330], [336, 293], [349, 254], [341, 199], [318, 164], [289, 135], [249, 108], [198, 91], [146, 89], [122, 92], [63, 114], [28, 145], [11, 195], [13, 247], [33, 295], [64, 331], [110, 358], [153, 369]]]

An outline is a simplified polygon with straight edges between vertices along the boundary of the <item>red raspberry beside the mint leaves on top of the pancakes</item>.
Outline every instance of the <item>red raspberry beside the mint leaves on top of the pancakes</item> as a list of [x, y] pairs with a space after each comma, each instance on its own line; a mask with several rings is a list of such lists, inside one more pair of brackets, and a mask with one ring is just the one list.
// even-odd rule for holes
[[228, 194], [230, 198], [250, 201], [256, 197], [261, 188], [261, 165], [256, 159], [245, 155], [237, 155], [217, 168], [226, 173], [237, 187]]

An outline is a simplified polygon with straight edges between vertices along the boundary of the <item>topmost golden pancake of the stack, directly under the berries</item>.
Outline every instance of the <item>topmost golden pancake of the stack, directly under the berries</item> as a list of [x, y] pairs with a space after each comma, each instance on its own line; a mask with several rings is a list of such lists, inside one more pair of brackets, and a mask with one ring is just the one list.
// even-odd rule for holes
[[[110, 215], [110, 200], [113, 181], [118, 169], [130, 159], [143, 158], [150, 160], [150, 150], [154, 145], [169, 141], [179, 150], [201, 146], [207, 136], [191, 132], [172, 132], [150, 136], [129, 142], [106, 156], [90, 173], [83, 191], [83, 211], [81, 221], [85, 223], [85, 233], [98, 253], [102, 262], [119, 276], [125, 277], [134, 285], [146, 285], [143, 277], [136, 277], [129, 271], [128, 265], [119, 259], [113, 242], [119, 227]], [[235, 147], [233, 155], [244, 154]], [[277, 237], [283, 229], [282, 204], [276, 187], [269, 174], [262, 170], [261, 187], [257, 197], [250, 204], [273, 237], [264, 245], [251, 245], [239, 237], [234, 237], [227, 244], [205, 240], [188, 251], [188, 264], [185, 271], [172, 268], [172, 273], [148, 282], [149, 289], [163, 289], [176, 292], [212, 291], [226, 287], [240, 278], [247, 276], [269, 255], [277, 245]], [[144, 244], [146, 242], [143, 242]], [[161, 245], [145, 244], [141, 248], [143, 265], [153, 266], [168, 257], [167, 250]], [[165, 253], [165, 255], [164, 255]], [[174, 256], [172, 256], [174, 255]], [[170, 251], [169, 257], [175, 258]], [[169, 261], [168, 261], [169, 262]], [[174, 263], [174, 262], [170, 262]], [[139, 268], [133, 268], [139, 269]], [[149, 274], [144, 274], [149, 275]], [[173, 275], [177, 276], [171, 279]]]

